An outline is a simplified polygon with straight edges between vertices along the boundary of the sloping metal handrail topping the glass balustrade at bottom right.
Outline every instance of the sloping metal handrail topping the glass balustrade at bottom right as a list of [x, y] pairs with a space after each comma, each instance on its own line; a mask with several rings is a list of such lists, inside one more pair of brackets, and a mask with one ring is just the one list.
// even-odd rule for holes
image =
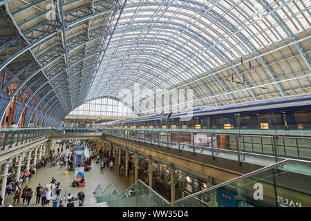
[[240, 180], [244, 180], [245, 178], [251, 177], [252, 175], [256, 175], [256, 174], [258, 174], [258, 173], [262, 173], [262, 172], [268, 171], [268, 170], [270, 170], [270, 169], [273, 169], [273, 168], [275, 168], [275, 167], [277, 167], [277, 166], [283, 166], [283, 165], [288, 164], [288, 163], [308, 164], [308, 165], [311, 166], [311, 162], [310, 162], [310, 161], [306, 161], [306, 160], [295, 160], [295, 159], [283, 160], [283, 161], [281, 161], [281, 162], [277, 162], [277, 163], [272, 164], [272, 165], [270, 165], [270, 166], [265, 166], [265, 167], [263, 167], [263, 168], [261, 168], [261, 169], [258, 169], [258, 170], [256, 170], [256, 171], [252, 171], [252, 172], [247, 173], [247, 174], [245, 174], [245, 175], [241, 175], [241, 176], [236, 177], [236, 178], [234, 178], [234, 179], [232, 179], [232, 180], [228, 180], [228, 181], [226, 181], [226, 182], [222, 182], [221, 184], [217, 184], [217, 185], [215, 185], [215, 186], [211, 186], [211, 187], [209, 187], [209, 188], [207, 188], [207, 189], [205, 189], [205, 190], [198, 191], [198, 192], [193, 193], [193, 194], [191, 194], [191, 195], [187, 195], [185, 198], [180, 198], [180, 199], [178, 199], [178, 200], [175, 200], [175, 201], [171, 202], [170, 204], [173, 204], [173, 203], [176, 203], [176, 202], [181, 202], [181, 201], [183, 201], [183, 200], [187, 200], [188, 198], [192, 198], [192, 197], [194, 197], [194, 196], [196, 196], [196, 195], [200, 195], [200, 194], [202, 194], [202, 193], [207, 193], [207, 192], [213, 191], [213, 190], [218, 189], [218, 188], [220, 188], [220, 187], [222, 187], [222, 186], [225, 186], [225, 185], [227, 185], [227, 184], [232, 184], [233, 182], [237, 182], [237, 181], [240, 181]]

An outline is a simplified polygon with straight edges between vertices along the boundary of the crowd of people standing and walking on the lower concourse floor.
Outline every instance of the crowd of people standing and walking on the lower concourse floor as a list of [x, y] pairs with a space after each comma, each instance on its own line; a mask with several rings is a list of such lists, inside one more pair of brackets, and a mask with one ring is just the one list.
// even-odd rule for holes
[[[16, 204], [22, 204], [26, 206], [30, 205], [32, 198], [35, 197], [35, 204], [41, 204], [42, 207], [49, 207], [52, 202], [52, 206], [58, 206], [60, 204], [60, 195], [59, 195], [59, 182], [56, 182], [54, 177], [49, 184], [46, 186], [41, 185], [39, 183], [35, 188], [32, 188], [28, 185], [25, 185], [23, 189], [23, 182], [27, 180], [27, 178], [31, 178], [33, 174], [37, 172], [37, 169], [45, 168], [48, 163], [52, 166], [59, 166], [59, 169], [66, 168], [67, 171], [73, 171], [73, 153], [74, 148], [79, 147], [81, 145], [66, 143], [66, 154], [61, 153], [62, 151], [58, 148], [57, 150], [51, 150], [49, 155], [46, 157], [41, 157], [41, 159], [37, 159], [35, 162], [31, 161], [29, 169], [27, 170], [26, 166], [21, 166], [20, 177], [16, 177], [15, 171], [10, 171], [10, 175], [8, 177], [8, 182], [6, 186], [6, 198], [8, 195], [12, 195], [13, 198], [13, 206]], [[89, 171], [91, 169], [91, 163], [93, 160], [96, 160], [97, 164], [100, 163], [100, 171], [104, 171], [110, 167], [111, 171], [113, 170], [113, 166], [115, 163], [115, 157], [109, 155], [109, 151], [101, 149], [99, 153], [93, 153], [93, 146], [86, 143], [86, 148], [88, 148], [89, 153], [91, 154], [89, 157], [84, 156], [83, 164], [79, 164], [78, 166], [84, 166], [84, 171]], [[67, 151], [68, 149], [68, 151]], [[69, 153], [69, 154], [68, 154]], [[123, 166], [119, 167], [119, 174], [122, 174]], [[77, 186], [78, 184], [85, 184], [85, 178], [79, 177], [79, 179], [75, 179], [74, 182]], [[0, 201], [3, 199], [0, 198]], [[68, 198], [66, 199], [67, 207], [74, 207], [75, 201], [79, 202], [79, 206], [84, 206], [85, 202], [85, 194], [83, 191], [80, 191], [77, 194], [77, 198], [74, 198], [70, 193], [68, 194]], [[0, 202], [1, 204], [1, 202]], [[63, 205], [63, 204], [62, 204]]]

